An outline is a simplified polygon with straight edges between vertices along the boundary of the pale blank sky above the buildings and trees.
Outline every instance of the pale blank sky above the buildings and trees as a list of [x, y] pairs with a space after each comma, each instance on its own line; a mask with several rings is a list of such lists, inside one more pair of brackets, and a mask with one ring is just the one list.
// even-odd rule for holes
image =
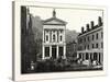
[[[54, 8], [30, 7], [29, 9], [33, 16], [40, 16], [42, 20], [53, 16]], [[101, 10], [55, 8], [55, 11], [56, 17], [67, 22], [66, 28], [76, 32], [81, 32], [81, 26], [86, 30], [86, 24], [90, 24], [90, 21], [95, 21], [95, 24], [98, 24], [98, 16], [102, 16]]]

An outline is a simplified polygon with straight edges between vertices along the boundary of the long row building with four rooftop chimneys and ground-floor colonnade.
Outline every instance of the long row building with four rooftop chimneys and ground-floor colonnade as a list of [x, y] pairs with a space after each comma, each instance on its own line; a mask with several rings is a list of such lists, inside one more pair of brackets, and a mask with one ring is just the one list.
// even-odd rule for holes
[[103, 57], [103, 23], [102, 19], [98, 17], [98, 24], [94, 21], [86, 25], [86, 31], [81, 27], [81, 33], [78, 35], [77, 58], [81, 60], [96, 60], [102, 65]]

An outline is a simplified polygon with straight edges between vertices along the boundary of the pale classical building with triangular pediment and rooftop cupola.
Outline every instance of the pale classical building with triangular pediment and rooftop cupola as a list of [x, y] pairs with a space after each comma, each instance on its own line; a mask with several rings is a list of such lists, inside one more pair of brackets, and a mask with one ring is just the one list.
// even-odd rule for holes
[[55, 10], [51, 19], [43, 21], [42, 59], [66, 58], [65, 30], [66, 22], [56, 17]]

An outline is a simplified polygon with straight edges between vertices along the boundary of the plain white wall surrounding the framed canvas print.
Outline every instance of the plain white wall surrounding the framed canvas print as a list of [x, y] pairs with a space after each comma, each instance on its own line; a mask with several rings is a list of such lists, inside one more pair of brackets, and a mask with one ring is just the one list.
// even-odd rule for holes
[[[33, 1], [33, 0], [30, 0]], [[108, 7], [108, 14], [110, 14], [110, 0], [36, 0], [42, 2], [59, 2], [59, 3], [78, 3], [78, 4], [92, 4]], [[12, 7], [11, 0], [0, 0], [0, 82], [12, 82], [11, 66], [12, 66]], [[110, 15], [108, 15], [110, 17]], [[110, 20], [108, 19], [108, 22]], [[110, 35], [110, 25], [108, 24], [108, 36]], [[108, 37], [110, 42], [110, 37]], [[108, 43], [108, 49], [110, 43]], [[108, 51], [108, 58], [110, 58]], [[110, 59], [108, 59], [108, 69], [110, 69]], [[77, 78], [77, 79], [61, 79], [61, 80], [43, 80], [40, 82], [109, 82], [110, 70], [108, 77], [95, 78]], [[35, 81], [30, 81], [35, 82]]]

